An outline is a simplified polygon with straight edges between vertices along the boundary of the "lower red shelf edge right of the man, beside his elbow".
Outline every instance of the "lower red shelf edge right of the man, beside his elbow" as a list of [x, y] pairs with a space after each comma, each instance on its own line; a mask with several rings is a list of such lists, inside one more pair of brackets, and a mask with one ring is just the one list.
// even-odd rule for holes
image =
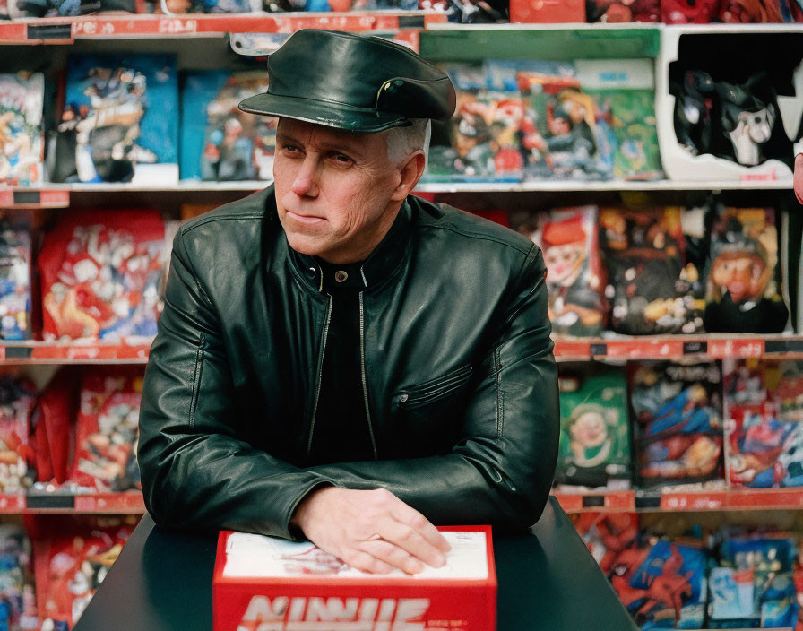
[[556, 492], [566, 513], [803, 510], [803, 488]]

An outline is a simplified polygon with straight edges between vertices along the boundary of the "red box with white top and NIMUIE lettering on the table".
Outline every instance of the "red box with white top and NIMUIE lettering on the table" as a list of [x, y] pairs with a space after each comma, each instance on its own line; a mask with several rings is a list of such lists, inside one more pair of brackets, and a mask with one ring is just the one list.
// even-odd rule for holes
[[[452, 543], [446, 567], [415, 576], [363, 575], [311, 544], [221, 531], [212, 578], [213, 629], [495, 631], [490, 526], [438, 530]], [[224, 575], [229, 555], [232, 566]], [[273, 565], [279, 567], [273, 575], [249, 575], [254, 566]]]

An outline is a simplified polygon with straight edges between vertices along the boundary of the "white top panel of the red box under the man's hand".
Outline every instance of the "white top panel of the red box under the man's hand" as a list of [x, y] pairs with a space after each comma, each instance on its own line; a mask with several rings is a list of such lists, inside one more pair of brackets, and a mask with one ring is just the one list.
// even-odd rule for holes
[[[484, 580], [488, 578], [485, 532], [441, 532], [452, 546], [443, 567], [424, 566], [416, 575], [396, 570], [393, 579]], [[342, 563], [309, 542], [297, 542], [246, 532], [234, 532], [226, 541], [226, 566], [229, 578], [342, 578], [376, 579], [377, 575], [360, 572]]]

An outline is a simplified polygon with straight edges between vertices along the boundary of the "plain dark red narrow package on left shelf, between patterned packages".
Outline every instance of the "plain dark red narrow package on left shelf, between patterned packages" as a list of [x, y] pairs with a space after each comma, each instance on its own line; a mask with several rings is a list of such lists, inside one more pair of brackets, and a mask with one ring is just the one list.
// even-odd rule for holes
[[78, 410], [78, 373], [62, 368], [39, 395], [31, 417], [37, 481], [63, 484], [73, 459], [73, 419]]

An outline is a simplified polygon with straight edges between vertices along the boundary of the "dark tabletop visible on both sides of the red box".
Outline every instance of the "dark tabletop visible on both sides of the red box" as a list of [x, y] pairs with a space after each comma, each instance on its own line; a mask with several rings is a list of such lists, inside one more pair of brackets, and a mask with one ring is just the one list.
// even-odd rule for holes
[[[216, 544], [146, 514], [73, 631], [211, 631]], [[554, 497], [532, 534], [495, 535], [494, 554], [498, 631], [635, 630]]]

